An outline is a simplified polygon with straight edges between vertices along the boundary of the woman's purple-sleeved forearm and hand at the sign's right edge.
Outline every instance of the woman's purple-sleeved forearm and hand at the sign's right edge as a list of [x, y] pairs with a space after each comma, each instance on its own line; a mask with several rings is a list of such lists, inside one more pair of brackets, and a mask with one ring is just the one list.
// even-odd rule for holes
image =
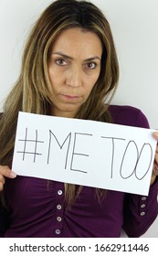
[[[158, 140], [158, 133], [153, 133]], [[153, 175], [148, 197], [138, 195], [127, 195], [124, 204], [123, 229], [129, 237], [140, 237], [153, 224], [158, 216], [158, 144], [156, 146]]]

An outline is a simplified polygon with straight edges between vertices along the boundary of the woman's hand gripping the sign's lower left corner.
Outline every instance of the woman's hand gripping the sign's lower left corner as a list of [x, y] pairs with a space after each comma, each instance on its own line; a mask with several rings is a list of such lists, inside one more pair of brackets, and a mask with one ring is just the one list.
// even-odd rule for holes
[[5, 177], [15, 178], [16, 174], [6, 165], [0, 165], [0, 191], [4, 189]]

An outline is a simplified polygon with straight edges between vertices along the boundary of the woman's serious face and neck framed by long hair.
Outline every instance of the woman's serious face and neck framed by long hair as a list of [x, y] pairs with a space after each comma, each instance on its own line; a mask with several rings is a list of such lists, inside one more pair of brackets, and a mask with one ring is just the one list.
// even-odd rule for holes
[[80, 28], [68, 28], [56, 39], [48, 61], [53, 90], [52, 114], [74, 117], [87, 101], [100, 76], [100, 37]]

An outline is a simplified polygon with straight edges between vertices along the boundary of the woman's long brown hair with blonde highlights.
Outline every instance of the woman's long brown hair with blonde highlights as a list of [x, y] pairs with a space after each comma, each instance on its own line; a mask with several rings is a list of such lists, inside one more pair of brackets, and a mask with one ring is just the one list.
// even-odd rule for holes
[[[117, 88], [119, 65], [109, 22], [100, 9], [90, 2], [55, 1], [32, 29], [24, 49], [19, 78], [5, 101], [0, 119], [0, 165], [12, 163], [18, 112], [49, 114], [53, 91], [47, 61], [58, 34], [69, 27], [80, 27], [96, 33], [103, 47], [100, 77], [76, 118], [111, 122], [108, 105]], [[72, 201], [75, 186], [65, 187], [66, 197]]]

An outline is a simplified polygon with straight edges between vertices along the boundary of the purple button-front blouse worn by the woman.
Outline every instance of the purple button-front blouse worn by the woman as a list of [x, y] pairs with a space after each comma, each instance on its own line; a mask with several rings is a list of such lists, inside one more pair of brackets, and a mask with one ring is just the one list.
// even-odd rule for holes
[[[149, 128], [138, 109], [111, 106], [110, 111], [114, 123]], [[158, 215], [157, 194], [158, 182], [148, 197], [109, 190], [99, 202], [95, 188], [83, 187], [66, 209], [63, 183], [50, 181], [47, 186], [46, 179], [26, 176], [6, 179], [9, 211], [0, 212], [1, 237], [118, 238], [121, 229], [140, 237]]]

